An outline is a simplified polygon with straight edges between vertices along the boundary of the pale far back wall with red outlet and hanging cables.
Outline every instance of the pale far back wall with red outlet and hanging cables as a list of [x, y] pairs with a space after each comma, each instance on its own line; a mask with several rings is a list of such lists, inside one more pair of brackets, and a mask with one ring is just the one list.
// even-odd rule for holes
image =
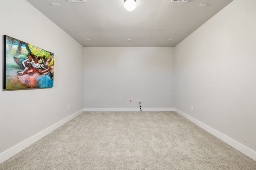
[[[85, 47], [85, 108], [174, 107], [174, 47]], [[130, 103], [130, 99], [132, 102]]]

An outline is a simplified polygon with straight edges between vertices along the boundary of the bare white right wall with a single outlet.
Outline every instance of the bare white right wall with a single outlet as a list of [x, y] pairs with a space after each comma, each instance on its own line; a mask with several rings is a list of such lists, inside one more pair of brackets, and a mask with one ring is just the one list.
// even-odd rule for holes
[[255, 31], [256, 1], [234, 0], [175, 47], [175, 108], [254, 153]]

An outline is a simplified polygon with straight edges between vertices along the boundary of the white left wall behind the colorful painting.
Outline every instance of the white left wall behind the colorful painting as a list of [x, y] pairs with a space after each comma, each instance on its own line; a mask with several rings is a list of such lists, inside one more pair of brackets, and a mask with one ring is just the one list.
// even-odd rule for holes
[[[2, 153], [84, 108], [84, 47], [26, 0], [1, 0], [0, 14], [1, 35], [54, 53], [53, 88], [0, 90]], [[1, 62], [2, 43], [1, 40]], [[0, 89], [3, 89], [2, 76]]]

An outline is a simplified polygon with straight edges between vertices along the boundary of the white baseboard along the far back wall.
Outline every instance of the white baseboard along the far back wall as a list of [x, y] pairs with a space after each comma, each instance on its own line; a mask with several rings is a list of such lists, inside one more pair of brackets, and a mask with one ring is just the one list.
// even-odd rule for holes
[[[84, 111], [140, 111], [140, 108], [84, 108]], [[142, 108], [142, 111], [174, 111], [174, 108]]]

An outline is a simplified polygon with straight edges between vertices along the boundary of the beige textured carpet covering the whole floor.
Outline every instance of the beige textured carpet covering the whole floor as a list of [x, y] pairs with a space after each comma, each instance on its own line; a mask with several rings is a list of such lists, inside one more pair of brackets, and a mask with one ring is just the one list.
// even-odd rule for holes
[[84, 112], [0, 170], [256, 170], [256, 161], [173, 111]]

